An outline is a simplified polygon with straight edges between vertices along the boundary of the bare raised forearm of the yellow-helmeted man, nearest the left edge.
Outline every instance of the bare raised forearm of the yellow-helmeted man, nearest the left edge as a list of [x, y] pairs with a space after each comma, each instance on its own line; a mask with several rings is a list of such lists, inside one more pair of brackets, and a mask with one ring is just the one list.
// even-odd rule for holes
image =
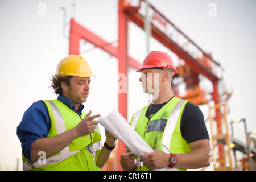
[[54, 137], [35, 140], [35, 142], [31, 144], [31, 161], [35, 161], [40, 157], [40, 155], [38, 155], [39, 151], [46, 152], [46, 157], [51, 156], [63, 150], [63, 148], [67, 147], [68, 144], [76, 138], [75, 130], [71, 129]]

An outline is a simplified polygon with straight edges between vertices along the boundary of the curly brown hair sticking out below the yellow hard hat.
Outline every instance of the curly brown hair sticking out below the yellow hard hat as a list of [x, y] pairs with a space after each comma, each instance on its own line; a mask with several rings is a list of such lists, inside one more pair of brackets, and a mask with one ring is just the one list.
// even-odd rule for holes
[[55, 94], [62, 94], [61, 82], [67, 82], [67, 85], [69, 85], [69, 80], [71, 77], [72, 76], [62, 74], [53, 75], [51, 79], [52, 84], [49, 86], [49, 88], [53, 88]]

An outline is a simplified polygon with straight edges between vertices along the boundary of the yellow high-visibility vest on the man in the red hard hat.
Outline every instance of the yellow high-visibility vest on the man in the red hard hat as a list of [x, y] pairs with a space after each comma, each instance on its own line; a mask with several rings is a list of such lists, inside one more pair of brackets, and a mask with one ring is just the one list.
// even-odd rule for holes
[[[146, 111], [150, 105], [137, 111], [131, 118], [130, 125], [139, 135], [153, 148], [166, 153], [185, 154], [191, 149], [181, 135], [180, 121], [184, 107], [188, 101], [173, 97], [150, 119], [146, 117]], [[138, 156], [137, 156], [138, 158]], [[146, 166], [141, 166], [136, 170], [149, 170]], [[186, 170], [182, 168], [169, 168], [164, 170]]]

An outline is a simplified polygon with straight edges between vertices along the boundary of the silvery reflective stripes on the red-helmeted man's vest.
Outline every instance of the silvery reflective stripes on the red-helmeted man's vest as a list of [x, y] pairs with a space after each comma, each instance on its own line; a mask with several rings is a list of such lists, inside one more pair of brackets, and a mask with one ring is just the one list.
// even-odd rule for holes
[[[180, 110], [181, 110], [181, 106], [185, 103], [188, 102], [186, 100], [179, 100], [177, 102], [177, 104], [174, 106], [174, 109], [172, 110], [168, 121], [166, 123], [166, 127], [163, 131], [163, 138], [162, 138], [162, 151], [169, 154], [170, 152], [174, 152], [171, 150], [170, 144], [171, 144], [171, 138], [172, 138], [172, 134], [174, 133], [175, 130], [175, 126], [180, 114]], [[147, 107], [147, 106], [146, 106]], [[146, 107], [144, 107], [143, 109], [145, 109]], [[140, 117], [140, 115], [142, 114], [143, 109], [137, 111], [137, 113], [134, 114], [134, 117], [132, 118], [132, 121], [130, 123], [130, 125], [133, 127], [133, 129], [135, 129], [135, 126], [137, 125], [138, 119]], [[148, 121], [149, 122], [149, 121]], [[174, 152], [175, 153], [175, 152]], [[142, 166], [142, 163], [139, 162], [140, 160], [137, 159], [137, 166]], [[143, 166], [142, 166], [143, 168]], [[146, 169], [146, 168], [145, 168]], [[164, 171], [177, 171], [177, 168], [170, 168], [170, 167], [165, 167], [162, 169], [155, 169], [155, 170], [164, 170]]]

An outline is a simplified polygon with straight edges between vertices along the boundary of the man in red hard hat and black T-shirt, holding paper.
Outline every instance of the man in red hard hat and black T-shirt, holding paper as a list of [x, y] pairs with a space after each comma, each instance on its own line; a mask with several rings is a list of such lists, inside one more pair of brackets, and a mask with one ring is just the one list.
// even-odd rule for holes
[[120, 160], [122, 169], [186, 170], [209, 166], [211, 148], [204, 115], [198, 106], [172, 94], [172, 76], [178, 71], [171, 56], [152, 51], [137, 72], [142, 72], [139, 81], [143, 91], [152, 94], [152, 103], [137, 111], [130, 125], [154, 152], [135, 156], [126, 148]]

